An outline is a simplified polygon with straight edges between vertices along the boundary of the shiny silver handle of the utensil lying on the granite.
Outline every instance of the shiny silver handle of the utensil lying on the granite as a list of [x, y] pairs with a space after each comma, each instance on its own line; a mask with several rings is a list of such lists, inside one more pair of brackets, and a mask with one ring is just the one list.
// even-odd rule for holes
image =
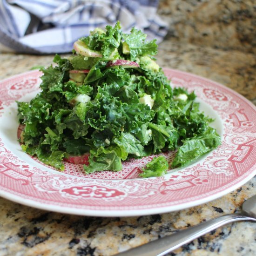
[[252, 221], [255, 220], [249, 216], [241, 214], [223, 215], [206, 222], [202, 222], [193, 227], [183, 229], [173, 235], [165, 236], [141, 246], [121, 252], [116, 256], [163, 256], [168, 252], [177, 249], [183, 244], [193, 241], [195, 238], [202, 236], [214, 229], [221, 227], [230, 222]]

